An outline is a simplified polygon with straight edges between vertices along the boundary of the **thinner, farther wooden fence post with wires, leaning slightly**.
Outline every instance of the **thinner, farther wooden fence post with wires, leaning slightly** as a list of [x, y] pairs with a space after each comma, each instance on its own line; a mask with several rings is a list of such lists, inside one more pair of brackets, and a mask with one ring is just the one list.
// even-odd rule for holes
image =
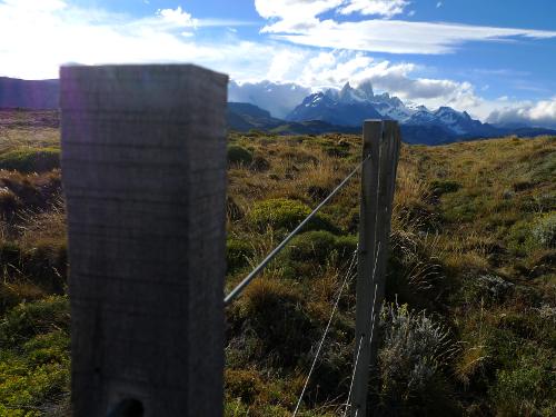
[[391, 206], [400, 147], [399, 127], [391, 120], [367, 120], [363, 129], [359, 257], [355, 356], [357, 363], [350, 415], [367, 416], [369, 366], [376, 368], [378, 321], [384, 300]]

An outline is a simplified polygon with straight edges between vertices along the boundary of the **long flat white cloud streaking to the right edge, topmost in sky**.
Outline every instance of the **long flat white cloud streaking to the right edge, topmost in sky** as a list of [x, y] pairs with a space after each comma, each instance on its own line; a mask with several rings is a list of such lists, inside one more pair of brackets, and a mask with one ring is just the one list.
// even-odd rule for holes
[[388, 53], [448, 53], [469, 41], [513, 38], [554, 38], [556, 31], [495, 28], [468, 24], [370, 19], [359, 21], [320, 20], [319, 16], [380, 16], [404, 12], [405, 0], [256, 0], [259, 14], [269, 19], [262, 31], [294, 43], [335, 49]]

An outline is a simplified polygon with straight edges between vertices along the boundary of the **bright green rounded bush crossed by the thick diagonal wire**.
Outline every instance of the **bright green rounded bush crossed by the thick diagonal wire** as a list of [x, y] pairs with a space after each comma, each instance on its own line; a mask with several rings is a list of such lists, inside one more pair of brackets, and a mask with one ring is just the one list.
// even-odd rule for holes
[[[249, 212], [249, 219], [261, 229], [271, 226], [274, 229], [291, 230], [305, 220], [310, 212], [311, 209], [300, 201], [277, 198], [256, 202]], [[322, 214], [317, 214], [306, 228], [308, 230], [338, 231], [330, 219]]]

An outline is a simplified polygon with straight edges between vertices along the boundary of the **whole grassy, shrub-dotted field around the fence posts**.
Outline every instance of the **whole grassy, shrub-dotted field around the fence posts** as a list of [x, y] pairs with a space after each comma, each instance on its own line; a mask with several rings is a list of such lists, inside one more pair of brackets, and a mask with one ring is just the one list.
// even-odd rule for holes
[[[68, 416], [56, 115], [0, 119], [0, 415]], [[227, 290], [331, 191], [359, 152], [355, 136], [230, 135]], [[403, 147], [384, 342], [370, 384], [378, 413], [556, 415], [555, 178], [556, 138]], [[291, 415], [348, 277], [300, 415], [344, 410], [358, 203], [354, 178], [227, 309], [227, 416]]]

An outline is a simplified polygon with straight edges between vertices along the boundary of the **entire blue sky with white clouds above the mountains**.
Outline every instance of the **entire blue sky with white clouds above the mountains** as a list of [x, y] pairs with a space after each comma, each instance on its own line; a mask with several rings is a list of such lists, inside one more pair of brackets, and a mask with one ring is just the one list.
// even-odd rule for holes
[[195, 62], [234, 80], [377, 91], [556, 126], [552, 0], [0, 0], [0, 76]]

